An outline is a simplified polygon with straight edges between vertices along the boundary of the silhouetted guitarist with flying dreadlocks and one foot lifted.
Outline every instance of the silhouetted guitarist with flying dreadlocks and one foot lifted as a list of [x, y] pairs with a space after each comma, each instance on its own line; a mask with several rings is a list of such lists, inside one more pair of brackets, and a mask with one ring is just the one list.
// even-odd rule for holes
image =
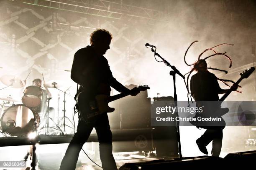
[[[200, 101], [218, 101], [218, 94], [224, 94], [228, 91], [228, 89], [221, 89], [217, 77], [207, 71], [205, 60], [198, 60], [194, 68], [197, 73], [191, 77], [190, 90], [191, 95], [197, 102], [197, 107], [201, 107], [202, 103]], [[234, 84], [231, 88], [235, 91], [237, 85]], [[202, 153], [208, 154], [206, 146], [212, 141], [212, 156], [220, 155], [224, 128], [225, 126], [206, 127], [205, 133], [196, 140], [198, 148]]]

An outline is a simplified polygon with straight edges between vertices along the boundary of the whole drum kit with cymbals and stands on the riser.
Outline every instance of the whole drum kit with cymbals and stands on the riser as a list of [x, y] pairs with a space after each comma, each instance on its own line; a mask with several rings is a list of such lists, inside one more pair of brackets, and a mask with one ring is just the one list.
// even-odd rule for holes
[[[26, 80], [21, 80], [20, 78], [13, 76], [13, 75], [4, 75], [0, 77], [0, 82], [2, 82], [6, 87], [0, 89], [3, 90], [7, 87], [11, 88], [24, 88], [26, 85]], [[44, 83], [44, 87], [47, 88], [55, 88], [59, 89], [63, 84], [61, 84], [61, 81], [49, 81]], [[64, 131], [65, 131], [65, 97], [66, 97], [66, 91], [64, 92], [64, 117], [61, 118], [61, 120], [64, 119]], [[69, 95], [69, 94], [68, 94]], [[44, 92], [41, 87], [31, 85], [25, 88], [23, 92], [23, 97], [21, 100], [12, 97], [11, 95], [8, 96], [0, 96], [0, 100], [2, 100], [2, 103], [0, 103], [0, 107], [2, 107], [2, 112], [0, 112], [0, 129], [3, 134], [8, 134], [10, 136], [27, 136], [31, 132], [35, 132], [38, 130], [38, 127], [42, 125], [41, 122], [44, 122], [43, 128], [47, 128], [47, 131], [45, 131], [45, 134], [49, 134], [49, 120], [54, 120], [49, 117], [49, 101], [51, 98], [46, 98], [46, 107], [47, 110], [44, 113], [38, 112], [38, 106], [42, 105], [44, 97]], [[59, 99], [58, 97], [58, 117], [59, 117]], [[22, 102], [22, 104], [14, 104], [17, 102]], [[41, 115], [40, 118], [40, 114]], [[42, 118], [43, 117], [43, 118]], [[42, 120], [41, 120], [42, 119]], [[64, 134], [61, 130], [61, 126], [58, 123], [55, 123], [57, 128], [52, 128], [55, 130], [59, 130], [61, 134]], [[41, 130], [40, 129], [40, 130]]]

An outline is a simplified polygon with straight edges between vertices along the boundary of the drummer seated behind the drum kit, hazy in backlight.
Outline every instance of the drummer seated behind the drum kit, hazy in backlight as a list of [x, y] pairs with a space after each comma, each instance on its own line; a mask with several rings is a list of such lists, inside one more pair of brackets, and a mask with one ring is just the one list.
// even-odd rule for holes
[[46, 109], [47, 109], [46, 99], [51, 98], [51, 92], [49, 91], [45, 83], [43, 84], [44, 88], [42, 88], [42, 80], [40, 78], [33, 80], [33, 85], [40, 87], [41, 90], [43, 91], [42, 102], [40, 105], [36, 107], [35, 110], [36, 112], [46, 112]]

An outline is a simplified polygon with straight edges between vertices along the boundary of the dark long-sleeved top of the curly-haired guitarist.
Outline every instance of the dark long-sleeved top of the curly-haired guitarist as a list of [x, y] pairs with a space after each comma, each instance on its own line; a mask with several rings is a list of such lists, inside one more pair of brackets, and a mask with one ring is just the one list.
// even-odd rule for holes
[[71, 78], [80, 85], [79, 92], [88, 95], [99, 94], [99, 86], [105, 85], [105, 91], [110, 94], [110, 86], [119, 92], [128, 91], [112, 75], [108, 60], [103, 55], [97, 55], [92, 47], [79, 49], [75, 55], [71, 70]]

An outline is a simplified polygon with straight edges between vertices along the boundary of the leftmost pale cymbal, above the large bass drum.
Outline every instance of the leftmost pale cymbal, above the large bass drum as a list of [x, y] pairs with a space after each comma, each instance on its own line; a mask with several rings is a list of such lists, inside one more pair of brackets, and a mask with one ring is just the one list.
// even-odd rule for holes
[[3, 75], [0, 77], [0, 81], [6, 85], [13, 88], [21, 88], [25, 86], [24, 80], [21, 80], [19, 77], [14, 75]]

